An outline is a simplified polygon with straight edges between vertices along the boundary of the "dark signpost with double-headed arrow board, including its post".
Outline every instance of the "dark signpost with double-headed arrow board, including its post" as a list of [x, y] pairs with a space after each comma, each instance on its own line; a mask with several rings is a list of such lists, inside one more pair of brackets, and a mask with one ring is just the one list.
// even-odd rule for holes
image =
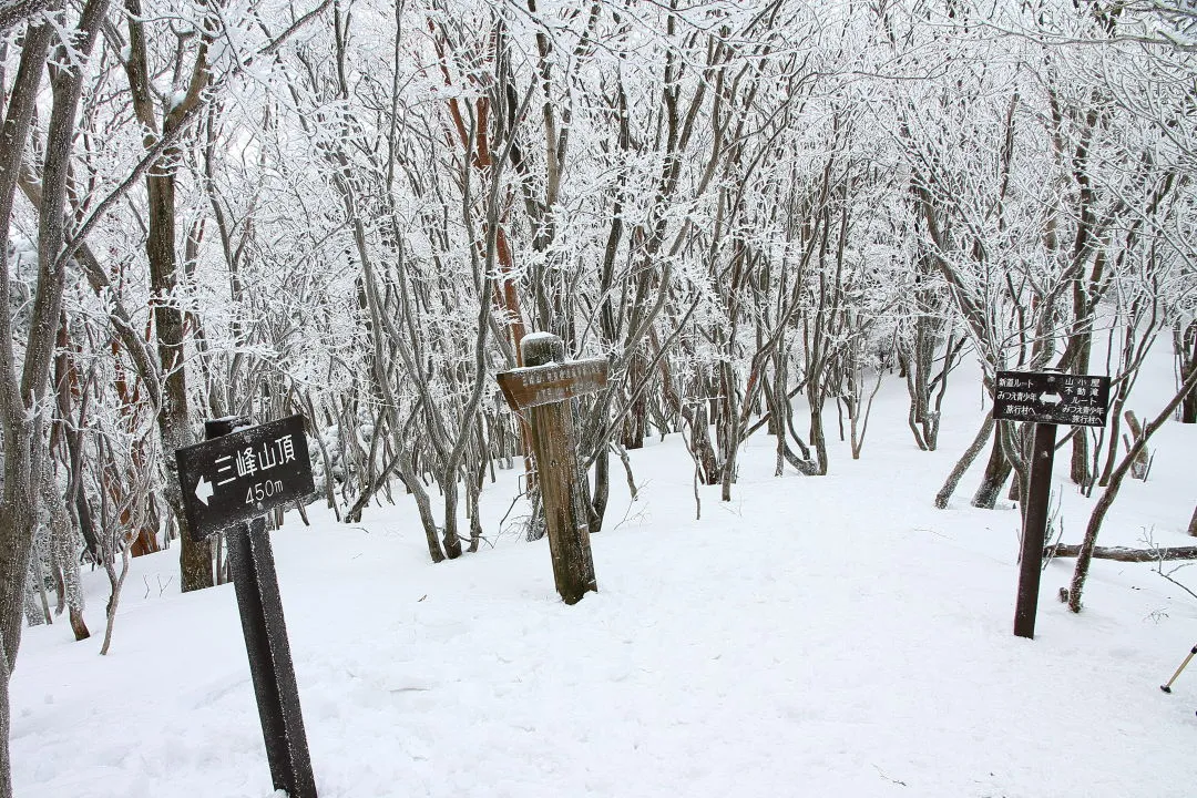
[[1033, 421], [1031, 485], [1022, 513], [1022, 554], [1014, 634], [1035, 636], [1039, 574], [1043, 571], [1051, 498], [1051, 471], [1056, 459], [1056, 425], [1104, 427], [1110, 407], [1110, 378], [1092, 374], [999, 371], [994, 390], [996, 421]]

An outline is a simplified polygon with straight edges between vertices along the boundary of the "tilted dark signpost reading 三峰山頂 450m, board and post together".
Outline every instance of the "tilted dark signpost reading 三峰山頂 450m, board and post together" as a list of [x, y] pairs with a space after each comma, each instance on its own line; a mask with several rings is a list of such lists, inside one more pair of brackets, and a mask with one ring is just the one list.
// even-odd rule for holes
[[299, 688], [282, 619], [266, 513], [315, 489], [303, 416], [250, 427], [243, 418], [205, 424], [207, 440], [175, 452], [187, 524], [195, 540], [225, 532], [249, 671], [275, 790], [316, 798]]

